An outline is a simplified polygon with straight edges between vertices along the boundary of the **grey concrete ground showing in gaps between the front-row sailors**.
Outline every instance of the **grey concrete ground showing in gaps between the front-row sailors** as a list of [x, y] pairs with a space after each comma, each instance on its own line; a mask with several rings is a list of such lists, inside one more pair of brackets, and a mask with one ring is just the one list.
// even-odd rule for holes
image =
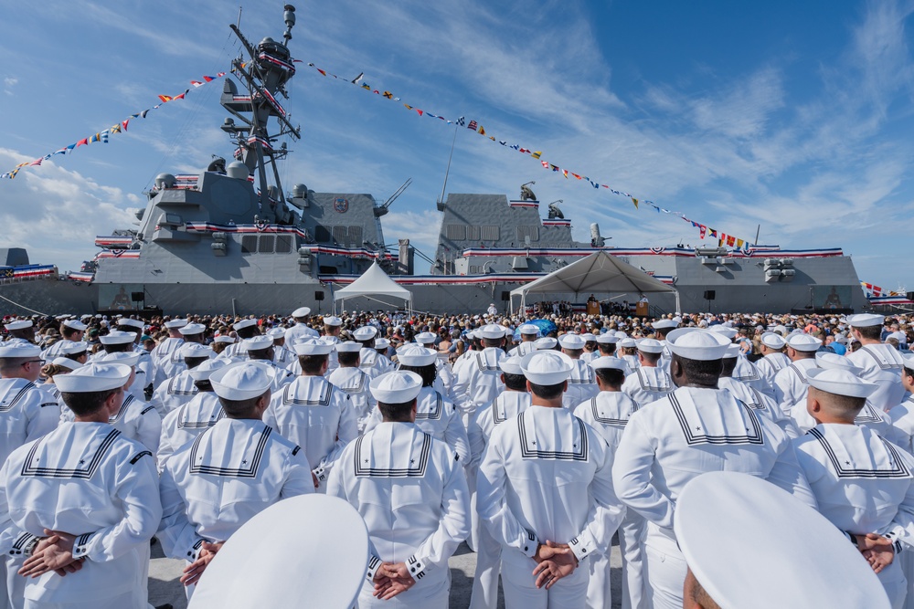
[[[622, 557], [619, 546], [613, 540], [611, 556], [612, 607], [622, 606]], [[185, 609], [187, 601], [178, 578], [186, 562], [163, 557], [162, 548], [155, 544], [152, 549], [153, 560], [149, 567], [149, 602], [153, 606], [170, 603], [175, 609]], [[473, 590], [473, 572], [476, 568], [476, 554], [465, 543], [454, 552], [449, 562], [451, 566], [451, 609], [466, 609], [470, 606], [470, 593]], [[499, 590], [498, 607], [505, 606]], [[238, 609], [245, 609], [239, 607]], [[276, 609], [282, 609], [277, 607]]]

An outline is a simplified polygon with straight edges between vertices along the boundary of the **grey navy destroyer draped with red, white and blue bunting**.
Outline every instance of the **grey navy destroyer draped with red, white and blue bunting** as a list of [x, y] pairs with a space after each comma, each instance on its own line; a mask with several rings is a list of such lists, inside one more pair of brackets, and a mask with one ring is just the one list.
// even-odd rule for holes
[[[137, 311], [166, 314], [283, 312], [333, 307], [334, 290], [376, 264], [413, 293], [416, 310], [507, 310], [511, 290], [605, 251], [678, 291], [683, 310], [850, 311], [867, 306], [853, 262], [840, 249], [782, 250], [726, 244], [711, 247], [609, 247], [590, 225], [590, 242], [572, 238], [560, 201], [540, 203], [525, 184], [520, 196], [448, 194], [438, 201], [441, 231], [429, 270], [415, 274], [408, 239], [385, 245], [384, 203], [371, 194], [287, 192], [278, 163], [285, 136], [300, 137], [280, 100], [295, 74], [289, 48], [295, 9], [285, 6], [282, 42], [251, 43], [230, 26], [246, 52], [232, 63], [220, 102], [231, 161], [217, 157], [193, 175], [162, 173], [138, 212], [139, 226], [96, 239], [99, 254], [80, 272], [61, 276], [30, 265], [21, 249], [0, 252], [0, 309], [14, 313]], [[274, 125], [272, 127], [271, 125]], [[202, 167], [201, 167], [202, 169]], [[408, 184], [404, 184], [404, 187]], [[388, 248], [391, 247], [391, 248]], [[550, 294], [582, 302], [589, 294]], [[640, 294], [600, 294], [635, 301]], [[349, 308], [396, 305], [349, 300]], [[652, 313], [673, 312], [672, 295], [652, 296]]]

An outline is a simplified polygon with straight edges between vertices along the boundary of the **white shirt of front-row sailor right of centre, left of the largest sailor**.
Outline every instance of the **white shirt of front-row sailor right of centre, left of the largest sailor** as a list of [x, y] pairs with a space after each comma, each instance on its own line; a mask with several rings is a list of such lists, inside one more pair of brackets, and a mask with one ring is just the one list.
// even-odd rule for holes
[[625, 513], [611, 468], [611, 451], [590, 425], [567, 408], [531, 405], [494, 428], [476, 509], [505, 551], [533, 556], [549, 540], [568, 543], [583, 561], [609, 548]]

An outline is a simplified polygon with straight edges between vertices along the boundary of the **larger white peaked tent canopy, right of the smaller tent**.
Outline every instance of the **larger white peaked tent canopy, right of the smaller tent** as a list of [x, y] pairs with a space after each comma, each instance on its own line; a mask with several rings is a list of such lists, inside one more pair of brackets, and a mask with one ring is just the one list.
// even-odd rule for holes
[[514, 297], [519, 296], [521, 310], [526, 305], [527, 294], [568, 294], [574, 293], [629, 293], [644, 294], [648, 292], [673, 292], [676, 299], [676, 311], [679, 311], [679, 292], [663, 281], [655, 279], [640, 268], [622, 262], [618, 257], [606, 252], [595, 252], [586, 258], [559, 268], [546, 277], [538, 278], [520, 288], [511, 290], [511, 306], [514, 308]]

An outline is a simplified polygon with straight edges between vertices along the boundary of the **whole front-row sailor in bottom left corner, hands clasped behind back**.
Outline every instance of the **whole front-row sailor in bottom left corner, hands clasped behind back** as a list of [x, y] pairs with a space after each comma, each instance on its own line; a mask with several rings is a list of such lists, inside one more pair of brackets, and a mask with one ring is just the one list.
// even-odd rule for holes
[[130, 375], [108, 362], [58, 375], [76, 420], [0, 469], [0, 552], [25, 559], [19, 606], [23, 596], [36, 609], [147, 606], [149, 540], [162, 518], [154, 460], [107, 423]]

